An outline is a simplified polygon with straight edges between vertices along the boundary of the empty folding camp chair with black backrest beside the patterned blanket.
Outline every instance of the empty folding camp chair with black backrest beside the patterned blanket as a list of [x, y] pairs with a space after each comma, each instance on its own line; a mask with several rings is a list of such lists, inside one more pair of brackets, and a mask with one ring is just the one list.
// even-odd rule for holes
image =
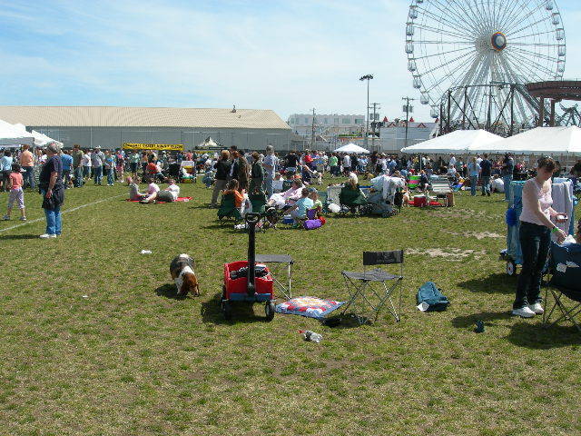
[[[389, 265], [399, 263], [399, 275], [392, 274], [385, 269], [377, 268], [366, 270], [370, 265]], [[350, 293], [350, 300], [345, 304], [343, 313], [346, 313], [350, 306], [353, 306], [353, 315], [359, 322], [364, 324], [371, 319], [377, 321], [379, 311], [383, 306], [387, 306], [389, 312], [399, 322], [399, 312], [401, 312], [401, 293], [403, 288], [403, 250], [391, 252], [363, 252], [363, 272], [342, 271], [347, 290]], [[378, 283], [378, 284], [374, 284]], [[379, 286], [379, 283], [380, 286]], [[399, 288], [399, 306], [396, 307], [391, 299], [391, 295]], [[360, 304], [361, 307], [356, 307]], [[358, 313], [358, 310], [361, 312]], [[371, 316], [367, 316], [370, 313]]]

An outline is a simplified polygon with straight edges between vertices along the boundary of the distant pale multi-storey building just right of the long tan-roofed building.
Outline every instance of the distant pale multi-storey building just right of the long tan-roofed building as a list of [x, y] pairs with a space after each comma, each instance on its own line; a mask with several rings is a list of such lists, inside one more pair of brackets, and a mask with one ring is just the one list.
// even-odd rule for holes
[[[365, 115], [315, 114], [315, 134], [336, 137], [340, 134], [361, 134], [365, 131]], [[312, 134], [313, 114], [291, 114], [287, 124], [294, 134]]]

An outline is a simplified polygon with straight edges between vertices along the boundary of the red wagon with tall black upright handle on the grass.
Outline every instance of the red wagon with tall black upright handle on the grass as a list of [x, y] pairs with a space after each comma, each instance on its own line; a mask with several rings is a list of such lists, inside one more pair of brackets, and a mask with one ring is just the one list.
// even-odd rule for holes
[[[274, 318], [274, 280], [266, 265], [255, 262], [256, 224], [260, 218], [259, 213], [248, 213], [245, 218], [248, 225], [248, 260], [224, 263], [222, 313], [227, 320], [231, 319], [231, 302], [264, 302], [267, 320]], [[241, 271], [242, 268], [246, 271]], [[257, 270], [260, 277], [256, 276]]]

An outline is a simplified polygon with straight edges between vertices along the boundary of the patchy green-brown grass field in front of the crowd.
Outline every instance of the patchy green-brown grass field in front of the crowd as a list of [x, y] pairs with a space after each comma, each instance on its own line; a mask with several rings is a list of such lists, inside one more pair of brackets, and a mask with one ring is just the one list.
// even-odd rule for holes
[[[0, 223], [0, 434], [581, 433], [581, 335], [509, 316], [516, 279], [498, 261], [500, 195], [259, 233], [258, 253], [295, 259], [295, 295], [345, 299], [340, 271], [359, 270], [362, 251], [406, 250], [402, 321], [385, 312], [329, 328], [291, 315], [263, 322], [260, 305], [224, 322], [222, 264], [245, 259], [246, 233], [217, 225], [200, 183], [182, 185], [190, 203], [127, 203], [125, 193], [67, 191], [64, 210], [108, 200], [64, 213], [56, 240], [38, 239], [44, 219]], [[40, 203], [26, 194], [29, 221], [44, 217]], [[199, 298], [174, 298], [179, 253], [197, 262]], [[447, 312], [416, 309], [428, 280]], [[476, 320], [486, 332], [473, 332]], [[323, 342], [302, 342], [304, 328]]]

